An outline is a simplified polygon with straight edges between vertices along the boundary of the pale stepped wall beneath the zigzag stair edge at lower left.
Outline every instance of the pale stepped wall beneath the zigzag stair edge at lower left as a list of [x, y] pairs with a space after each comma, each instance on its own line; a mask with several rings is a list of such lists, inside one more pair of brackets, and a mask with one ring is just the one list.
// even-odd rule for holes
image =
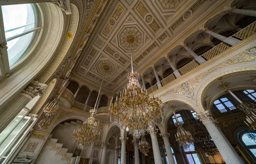
[[68, 161], [61, 161], [62, 156], [56, 156], [56, 151], [50, 148], [51, 146], [44, 147], [37, 164], [67, 164]]

